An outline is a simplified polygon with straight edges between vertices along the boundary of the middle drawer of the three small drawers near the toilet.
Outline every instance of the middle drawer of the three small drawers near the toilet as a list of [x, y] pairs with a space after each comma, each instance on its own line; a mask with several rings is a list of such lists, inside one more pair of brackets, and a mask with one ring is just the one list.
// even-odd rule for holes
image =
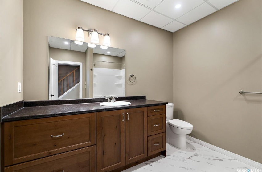
[[147, 117], [147, 135], [166, 132], [166, 114]]

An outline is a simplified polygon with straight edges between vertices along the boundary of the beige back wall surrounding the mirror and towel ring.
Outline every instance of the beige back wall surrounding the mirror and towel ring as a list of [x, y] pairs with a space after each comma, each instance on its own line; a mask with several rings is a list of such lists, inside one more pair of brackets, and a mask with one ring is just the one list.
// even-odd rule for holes
[[[126, 83], [126, 96], [173, 100], [172, 33], [79, 0], [24, 0], [23, 6], [25, 100], [48, 99], [47, 36], [74, 40], [78, 26], [109, 33], [112, 47], [126, 49], [126, 78], [137, 77]], [[87, 32], [85, 38], [90, 42]]]

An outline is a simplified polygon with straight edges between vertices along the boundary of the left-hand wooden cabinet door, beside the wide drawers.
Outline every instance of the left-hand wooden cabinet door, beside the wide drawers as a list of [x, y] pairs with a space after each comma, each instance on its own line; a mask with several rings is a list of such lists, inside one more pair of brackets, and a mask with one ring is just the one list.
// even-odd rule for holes
[[96, 113], [96, 171], [125, 165], [125, 110]]

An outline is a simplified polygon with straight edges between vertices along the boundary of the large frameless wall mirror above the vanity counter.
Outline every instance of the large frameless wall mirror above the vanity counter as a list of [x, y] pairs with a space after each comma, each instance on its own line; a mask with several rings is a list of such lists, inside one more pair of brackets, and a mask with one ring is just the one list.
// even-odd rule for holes
[[125, 96], [125, 49], [89, 46], [48, 36], [49, 100]]

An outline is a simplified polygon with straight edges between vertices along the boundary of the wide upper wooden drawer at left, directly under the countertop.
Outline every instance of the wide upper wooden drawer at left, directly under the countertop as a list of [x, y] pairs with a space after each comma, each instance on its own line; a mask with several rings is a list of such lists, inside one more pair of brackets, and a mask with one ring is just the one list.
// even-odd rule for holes
[[96, 144], [96, 113], [4, 123], [4, 166]]

